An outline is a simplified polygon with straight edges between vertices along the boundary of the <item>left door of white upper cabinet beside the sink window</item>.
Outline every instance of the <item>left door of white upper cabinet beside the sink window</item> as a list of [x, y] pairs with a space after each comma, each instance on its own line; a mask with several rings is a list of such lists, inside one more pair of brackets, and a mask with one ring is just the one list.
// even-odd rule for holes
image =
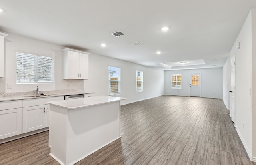
[[[78, 79], [79, 66], [77, 64], [79, 60], [79, 53], [68, 51], [68, 78], [69, 79]], [[66, 67], [66, 66], [63, 66]]]

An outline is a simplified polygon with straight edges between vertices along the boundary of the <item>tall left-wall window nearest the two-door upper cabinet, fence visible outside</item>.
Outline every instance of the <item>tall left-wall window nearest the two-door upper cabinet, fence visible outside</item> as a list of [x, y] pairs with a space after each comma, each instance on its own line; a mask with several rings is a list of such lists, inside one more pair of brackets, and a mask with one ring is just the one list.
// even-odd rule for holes
[[108, 66], [108, 94], [120, 94], [120, 73], [121, 68]]

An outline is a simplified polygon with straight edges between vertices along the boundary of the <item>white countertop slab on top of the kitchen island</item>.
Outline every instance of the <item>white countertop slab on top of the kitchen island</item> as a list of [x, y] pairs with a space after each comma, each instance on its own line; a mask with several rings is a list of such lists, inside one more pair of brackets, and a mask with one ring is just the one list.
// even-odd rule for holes
[[94, 97], [85, 97], [85, 98], [79, 98], [79, 99], [50, 101], [47, 103], [56, 105], [58, 107], [63, 107], [65, 109], [79, 109], [79, 108], [90, 107], [94, 105], [100, 105], [104, 103], [121, 101], [125, 99], [127, 98], [112, 97], [112, 96], [94, 96]]

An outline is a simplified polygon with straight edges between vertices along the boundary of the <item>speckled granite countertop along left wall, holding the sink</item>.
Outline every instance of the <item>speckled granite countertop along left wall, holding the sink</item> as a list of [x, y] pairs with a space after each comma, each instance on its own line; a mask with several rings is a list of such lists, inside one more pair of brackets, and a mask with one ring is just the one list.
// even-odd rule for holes
[[28, 97], [28, 96], [34, 96], [31, 94], [30, 95], [15, 95], [14, 94], [14, 95], [8, 95], [7, 97], [0, 97], [0, 102], [1, 101], [24, 100], [24, 99], [38, 99], [38, 98], [46, 98], [46, 97], [58, 97], [58, 96], [65, 96], [65, 95], [89, 94], [89, 93], [94, 93], [94, 92], [72, 91], [72, 92], [66, 92], [66, 93], [44, 93], [44, 95], [46, 95], [46, 96], [39, 96], [39, 97]]

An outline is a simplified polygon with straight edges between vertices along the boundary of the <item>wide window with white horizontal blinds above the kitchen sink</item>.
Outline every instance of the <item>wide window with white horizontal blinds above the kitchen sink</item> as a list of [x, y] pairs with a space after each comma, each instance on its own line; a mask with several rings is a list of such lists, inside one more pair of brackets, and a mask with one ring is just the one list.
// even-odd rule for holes
[[16, 54], [16, 82], [54, 82], [54, 58]]

